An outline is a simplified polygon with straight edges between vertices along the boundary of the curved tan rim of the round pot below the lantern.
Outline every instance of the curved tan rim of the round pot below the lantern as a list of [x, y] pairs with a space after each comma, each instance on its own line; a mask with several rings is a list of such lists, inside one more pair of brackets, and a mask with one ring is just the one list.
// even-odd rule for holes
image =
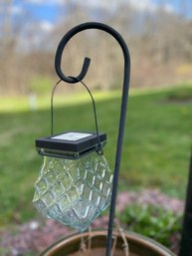
[[[138, 233], [132, 232], [132, 231], [122, 231], [125, 235], [125, 237], [129, 240], [129, 241], [134, 241], [136, 243], [140, 243], [144, 246], [146, 246], [147, 248], [151, 248], [153, 250], [155, 250], [155, 252], [159, 253], [159, 256], [176, 256], [173, 252], [171, 252], [169, 249], [167, 249], [165, 246], [163, 246], [162, 244], [156, 242], [155, 240], [148, 238], [146, 236], [140, 235]], [[120, 236], [120, 233], [118, 231], [113, 231], [113, 234]], [[50, 254], [50, 250], [57, 250], [60, 247], [66, 245], [66, 244], [71, 244], [73, 241], [81, 238], [81, 237], [95, 237], [95, 236], [106, 236], [107, 235], [107, 230], [106, 229], [98, 229], [98, 230], [92, 230], [91, 232], [86, 231], [83, 233], [80, 232], [75, 232], [75, 233], [71, 233], [68, 236], [63, 237], [62, 239], [60, 239], [59, 241], [53, 243], [52, 245], [50, 245], [47, 249], [45, 249], [39, 256], [53, 256], [52, 254]]]

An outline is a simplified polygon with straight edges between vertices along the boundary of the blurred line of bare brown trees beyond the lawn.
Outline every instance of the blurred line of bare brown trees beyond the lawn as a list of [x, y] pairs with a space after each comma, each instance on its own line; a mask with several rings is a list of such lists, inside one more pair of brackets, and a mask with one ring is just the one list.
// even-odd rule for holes
[[[192, 20], [186, 16], [188, 8], [192, 8], [188, 5], [190, 1], [180, 1], [179, 12], [165, 8], [161, 2], [151, 11], [139, 11], [124, 2], [112, 12], [104, 9], [93, 12], [68, 1], [58, 9], [56, 25], [43, 33], [39, 21], [29, 10], [13, 19], [13, 1], [3, 0], [0, 9], [0, 94], [39, 92], [42, 78], [56, 82], [54, 58], [62, 36], [73, 26], [90, 20], [114, 27], [127, 42], [132, 62], [131, 86], [154, 87], [190, 80]], [[64, 72], [71, 76], [79, 74], [85, 56], [92, 59], [86, 79], [90, 87], [106, 90], [119, 87], [123, 63], [115, 40], [99, 31], [77, 35], [64, 52]]]

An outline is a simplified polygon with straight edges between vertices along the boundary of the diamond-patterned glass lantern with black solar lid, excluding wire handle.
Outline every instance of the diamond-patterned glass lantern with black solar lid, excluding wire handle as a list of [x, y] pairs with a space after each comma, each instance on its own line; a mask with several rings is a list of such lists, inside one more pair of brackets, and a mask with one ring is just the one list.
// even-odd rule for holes
[[39, 212], [79, 231], [88, 229], [110, 203], [105, 143], [105, 133], [79, 131], [36, 139], [44, 157], [33, 199]]

